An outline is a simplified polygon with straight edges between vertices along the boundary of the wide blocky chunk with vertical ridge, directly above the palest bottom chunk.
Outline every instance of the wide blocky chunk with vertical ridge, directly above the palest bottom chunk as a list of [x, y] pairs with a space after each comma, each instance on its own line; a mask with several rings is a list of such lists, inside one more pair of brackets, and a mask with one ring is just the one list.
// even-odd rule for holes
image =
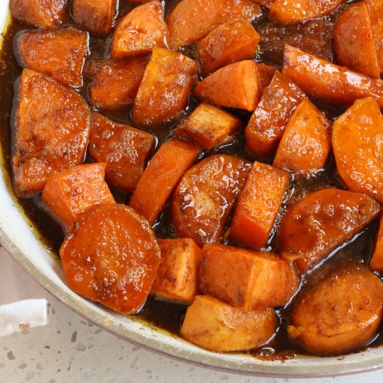
[[298, 287], [292, 265], [274, 253], [224, 244], [205, 244], [201, 292], [244, 312], [284, 306]]

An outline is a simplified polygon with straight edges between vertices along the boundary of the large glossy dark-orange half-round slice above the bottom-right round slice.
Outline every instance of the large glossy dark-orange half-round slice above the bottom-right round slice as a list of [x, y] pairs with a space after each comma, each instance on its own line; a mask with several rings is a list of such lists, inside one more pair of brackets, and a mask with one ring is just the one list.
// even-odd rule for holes
[[303, 273], [361, 232], [380, 212], [366, 194], [332, 188], [309, 193], [288, 208], [279, 228], [279, 251], [301, 256]]

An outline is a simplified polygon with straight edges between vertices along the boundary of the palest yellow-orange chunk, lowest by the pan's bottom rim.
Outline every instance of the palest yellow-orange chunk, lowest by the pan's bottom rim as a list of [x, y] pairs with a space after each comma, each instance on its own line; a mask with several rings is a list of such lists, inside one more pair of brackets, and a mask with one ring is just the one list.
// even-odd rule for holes
[[272, 308], [243, 313], [208, 295], [198, 295], [185, 315], [180, 335], [208, 350], [251, 350], [269, 341], [276, 331]]

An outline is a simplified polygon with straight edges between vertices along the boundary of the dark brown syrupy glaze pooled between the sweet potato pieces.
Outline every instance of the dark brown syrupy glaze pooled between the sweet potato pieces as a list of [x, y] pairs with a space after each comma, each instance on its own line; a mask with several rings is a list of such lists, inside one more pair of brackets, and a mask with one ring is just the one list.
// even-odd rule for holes
[[[170, 10], [175, 6], [177, 0], [166, 1], [165, 5], [165, 15], [169, 15]], [[343, 9], [345, 6], [342, 6]], [[118, 18], [122, 15], [125, 15], [132, 6], [120, 6]], [[258, 56], [256, 61], [263, 61], [264, 63], [271, 63], [272, 65], [280, 65], [283, 45], [288, 42], [291, 45], [300, 47], [312, 54], [316, 54], [323, 58], [327, 58], [330, 61], [333, 60], [334, 54], [332, 50], [332, 28], [334, 25], [334, 19], [340, 10], [336, 10], [332, 15], [328, 17], [323, 17], [322, 19], [311, 20], [308, 22], [303, 22], [294, 26], [283, 26], [281, 24], [276, 24], [273, 22], [267, 21], [267, 17], [260, 17], [260, 19], [254, 22], [257, 31], [260, 33], [262, 39], [260, 43], [260, 49], [258, 51]], [[70, 24], [70, 19], [67, 20], [67, 23]], [[13, 105], [13, 93], [14, 93], [14, 84], [17, 80], [17, 77], [22, 72], [22, 68], [19, 67], [13, 53], [13, 40], [17, 32], [22, 31], [23, 29], [29, 29], [25, 25], [19, 24], [14, 19], [12, 20], [6, 36], [4, 36], [3, 47], [1, 51], [0, 58], [0, 142], [1, 150], [3, 153], [3, 169], [6, 170], [6, 175], [9, 178], [9, 189], [10, 193], [13, 194], [13, 188], [11, 184], [12, 179], [12, 169], [11, 169], [11, 109]], [[91, 36], [90, 38], [90, 55], [87, 60], [90, 58], [100, 58], [109, 56], [109, 43], [110, 36], [106, 40], [104, 38], [97, 38]], [[189, 47], [185, 49], [184, 53], [194, 58], [195, 47]], [[87, 83], [86, 79], [84, 81], [84, 86], [81, 88], [80, 93], [88, 100], [87, 93]], [[313, 100], [315, 102], [315, 100]], [[190, 111], [194, 109], [197, 102], [193, 97], [190, 98], [189, 107], [187, 108], [186, 114], [189, 114]], [[325, 112], [327, 117], [334, 120], [339, 116], [344, 108], [332, 107], [322, 102], [315, 102], [317, 106]], [[233, 111], [235, 114], [240, 116], [243, 120], [249, 120], [250, 114], [244, 111]], [[130, 118], [130, 111], [120, 112], [117, 114], [106, 114], [110, 118], [120, 120], [124, 123], [132, 124], [132, 119]], [[156, 129], [151, 131], [155, 134], [158, 139], [158, 143], [162, 143], [171, 137], [171, 134], [174, 131], [175, 126], [179, 122], [171, 123], [166, 127], [161, 129]], [[157, 145], [158, 148], [159, 145]], [[251, 157], [244, 145], [244, 136], [240, 134], [237, 136], [235, 141], [232, 143], [222, 146], [221, 148], [205, 152], [201, 155], [201, 158], [208, 157], [212, 153], [226, 153], [230, 155], [240, 155], [245, 159], [253, 161], [255, 158]], [[88, 159], [87, 159], [88, 161]], [[263, 159], [263, 162], [272, 163], [272, 157], [269, 159]], [[286, 198], [279, 213], [279, 217], [276, 219], [276, 224], [272, 235], [270, 237], [269, 243], [265, 247], [267, 250], [277, 251], [275, 233], [278, 228], [279, 221], [283, 216], [283, 213], [286, 211], [288, 205], [295, 203], [308, 192], [314, 189], [318, 189], [325, 185], [334, 186], [343, 189], [341, 181], [336, 174], [334, 167], [334, 158], [331, 157], [328, 161], [326, 169], [320, 171], [316, 174], [308, 176], [306, 178], [295, 179], [294, 182], [290, 182], [290, 187], [286, 193]], [[127, 203], [129, 201], [129, 195], [121, 190], [116, 189], [116, 187], [110, 186], [111, 191], [113, 192], [116, 201], [119, 203]], [[26, 214], [26, 217], [33, 223], [33, 226], [40, 233], [40, 237], [43, 242], [47, 245], [47, 249], [52, 252], [52, 254], [58, 255], [58, 249], [63, 242], [64, 233], [61, 230], [61, 227], [56, 224], [56, 222], [42, 210], [42, 204], [40, 201], [40, 196], [35, 196], [33, 198], [17, 198], [15, 200], [21, 206], [22, 210]], [[234, 209], [233, 209], [234, 210]], [[230, 222], [230, 219], [229, 219]], [[228, 222], [228, 223], [229, 223]], [[177, 237], [175, 230], [171, 224], [171, 218], [169, 214], [169, 208], [166, 206], [162, 212], [160, 218], [155, 224], [155, 233], [158, 237]], [[302, 278], [301, 289], [317, 283], [321, 279], [325, 278], [329, 272], [334, 269], [342, 267], [345, 263], [349, 264], [350, 262], [356, 263], [368, 263], [370, 258], [370, 253], [373, 247], [373, 237], [377, 231], [377, 223], [370, 226], [364, 230], [364, 233], [357, 235], [350, 243], [345, 244], [338, 251], [334, 251], [327, 258], [327, 260], [322, 262], [322, 265], [319, 265], [313, 269], [313, 271], [308, 272]], [[226, 235], [223, 237], [223, 242], [225, 242]], [[229, 242], [225, 242], [229, 243]], [[133, 318], [139, 320], [144, 320], [149, 322], [152, 325], [155, 325], [161, 329], [171, 332], [172, 334], [178, 334], [180, 326], [182, 324], [183, 316], [186, 312], [186, 306], [179, 304], [171, 304], [169, 302], [164, 302], [155, 297], [148, 297], [146, 304], [141, 308], [141, 311], [136, 315], [133, 315]], [[295, 354], [307, 354], [302, 350], [299, 345], [292, 343], [288, 336], [286, 335], [286, 321], [289, 315], [289, 305], [286, 308], [281, 308], [277, 310], [279, 318], [279, 329], [276, 332], [276, 336], [272, 343], [267, 345], [260, 350], [249, 352], [253, 354], [254, 357], [259, 359], [267, 360], [286, 360], [290, 357], [294, 357]], [[373, 341], [374, 345], [382, 343], [382, 335], [377, 336]]]

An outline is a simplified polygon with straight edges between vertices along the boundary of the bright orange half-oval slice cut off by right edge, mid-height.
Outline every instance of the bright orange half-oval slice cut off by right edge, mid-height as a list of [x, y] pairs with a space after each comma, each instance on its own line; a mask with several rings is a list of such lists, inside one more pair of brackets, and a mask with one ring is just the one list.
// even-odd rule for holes
[[383, 203], [383, 116], [372, 97], [355, 101], [334, 122], [336, 169], [354, 192]]

